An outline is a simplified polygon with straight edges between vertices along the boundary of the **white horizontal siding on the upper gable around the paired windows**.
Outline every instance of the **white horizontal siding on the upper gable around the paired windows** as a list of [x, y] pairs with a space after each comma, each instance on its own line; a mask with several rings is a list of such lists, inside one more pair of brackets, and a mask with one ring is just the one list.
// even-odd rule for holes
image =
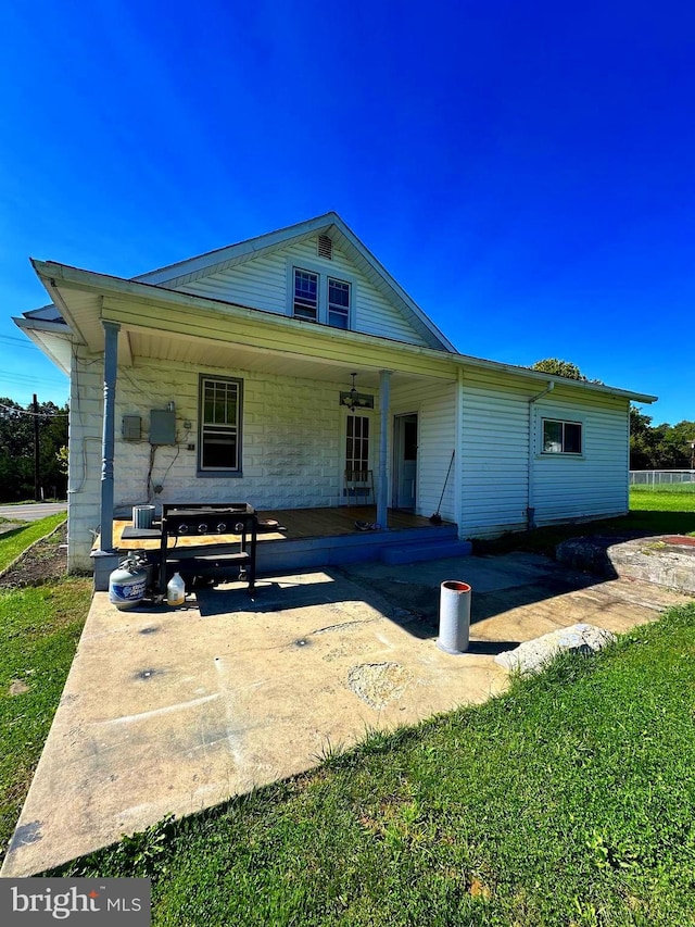
[[407, 318], [396, 305], [379, 292], [339, 249], [333, 247], [331, 261], [318, 258], [316, 239], [309, 239], [273, 254], [253, 258], [226, 271], [180, 284], [176, 288], [197, 296], [287, 315], [289, 312], [288, 274], [293, 264], [308, 265], [308, 270], [320, 267], [321, 273], [339, 279], [344, 277], [354, 283], [354, 330], [405, 341], [409, 345], [439, 347], [431, 335], [428, 336], [421, 330], [421, 326]]

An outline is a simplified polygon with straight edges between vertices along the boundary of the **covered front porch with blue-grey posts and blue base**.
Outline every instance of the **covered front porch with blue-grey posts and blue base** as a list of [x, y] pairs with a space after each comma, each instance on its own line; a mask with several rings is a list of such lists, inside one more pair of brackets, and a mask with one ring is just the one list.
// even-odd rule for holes
[[[261, 569], [271, 555], [268, 568], [293, 568], [368, 559], [369, 548], [379, 558], [406, 544], [412, 555], [446, 533], [456, 540], [455, 524], [428, 522], [441, 506], [453, 523], [460, 509], [462, 372], [445, 353], [75, 268], [37, 270], [74, 333], [68, 561], [85, 568], [87, 559], [98, 588], [122, 551], [118, 521], [146, 503], [159, 512], [248, 501], [288, 529], [264, 537]], [[228, 473], [205, 472], [207, 383], [231, 384]], [[170, 434], [155, 437], [167, 416]], [[365, 468], [375, 504], [362, 512], [345, 505], [345, 474]], [[395, 511], [405, 505], [412, 514]], [[357, 531], [356, 521], [380, 530]]]

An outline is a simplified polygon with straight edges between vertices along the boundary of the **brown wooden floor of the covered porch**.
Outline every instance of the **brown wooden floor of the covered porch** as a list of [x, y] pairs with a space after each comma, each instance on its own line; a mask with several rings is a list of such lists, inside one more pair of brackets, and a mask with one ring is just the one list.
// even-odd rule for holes
[[[367, 522], [371, 524], [376, 518], [374, 505], [352, 505], [334, 509], [275, 509], [273, 511], [258, 512], [262, 521], [274, 519], [286, 530], [268, 531], [258, 535], [258, 542], [281, 540], [306, 540], [309, 538], [334, 538], [341, 535], [363, 534], [355, 527], [355, 522]], [[123, 538], [125, 528], [132, 523], [126, 521], [114, 522], [114, 547], [117, 550], [159, 550], [160, 541], [155, 538]], [[451, 522], [443, 522], [451, 525]], [[414, 515], [410, 512], [399, 512], [389, 509], [388, 528], [390, 531], [406, 530], [408, 528], [427, 528], [437, 531], [438, 526], [432, 525], [429, 518]], [[365, 531], [371, 536], [380, 531]], [[237, 540], [236, 535], [206, 535], [204, 537], [191, 536], [172, 538], [170, 546], [200, 547], [206, 544], [232, 543]], [[97, 542], [98, 543], [98, 542]]]

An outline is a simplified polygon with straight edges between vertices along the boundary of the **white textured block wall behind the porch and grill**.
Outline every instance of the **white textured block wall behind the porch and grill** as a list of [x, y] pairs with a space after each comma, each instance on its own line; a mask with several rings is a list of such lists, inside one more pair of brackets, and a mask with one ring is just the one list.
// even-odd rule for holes
[[[75, 375], [76, 373], [76, 375]], [[198, 477], [199, 374], [243, 380], [243, 474]], [[99, 528], [101, 478], [102, 363], [76, 361], [71, 397], [71, 568], [89, 568], [89, 550]], [[339, 392], [345, 384], [279, 377], [240, 369], [201, 368], [161, 361], [119, 367], [116, 386], [114, 502], [130, 515], [132, 505], [166, 502], [248, 501], [258, 509], [338, 505], [344, 467], [345, 409]], [[176, 405], [176, 446], [154, 451], [148, 440], [151, 409]], [[376, 399], [378, 405], [378, 398]], [[124, 441], [122, 416], [142, 418], [142, 440]], [[186, 427], [190, 423], [190, 428]], [[372, 426], [378, 469], [378, 415]], [[194, 450], [188, 450], [194, 444]], [[86, 471], [85, 471], [86, 464]], [[151, 468], [151, 473], [150, 473]], [[148, 479], [148, 477], [150, 478]], [[150, 486], [148, 486], [150, 484]], [[154, 492], [152, 487], [162, 487]]]

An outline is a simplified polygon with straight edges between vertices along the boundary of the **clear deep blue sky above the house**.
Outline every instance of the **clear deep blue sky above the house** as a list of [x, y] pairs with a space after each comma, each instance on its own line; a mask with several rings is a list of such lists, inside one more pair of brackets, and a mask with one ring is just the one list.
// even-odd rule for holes
[[29, 256], [132, 276], [336, 210], [464, 353], [695, 419], [695, 5], [5, 0], [0, 396]]

